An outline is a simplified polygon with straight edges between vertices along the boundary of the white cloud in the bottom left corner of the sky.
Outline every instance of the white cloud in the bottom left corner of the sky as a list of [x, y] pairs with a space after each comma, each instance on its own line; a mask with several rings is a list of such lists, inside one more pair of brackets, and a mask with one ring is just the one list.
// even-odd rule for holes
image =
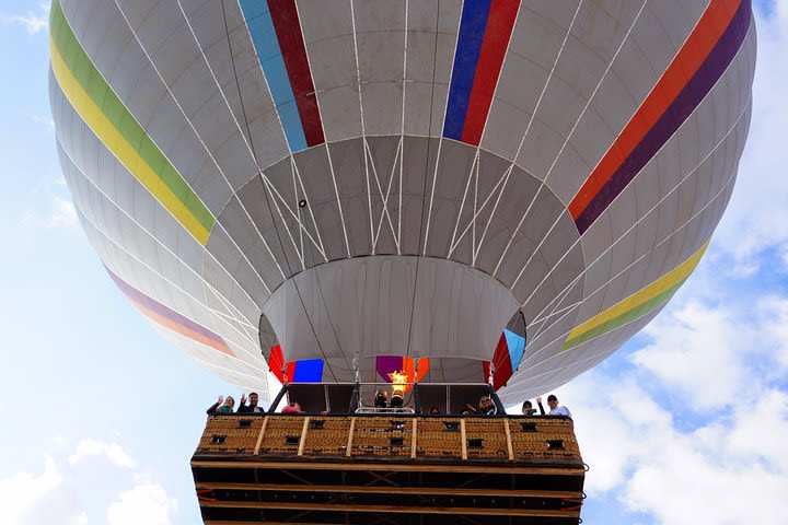
[[84, 525], [74, 487], [63, 479], [51, 457], [44, 472], [16, 472], [0, 479], [0, 523], [3, 525]]

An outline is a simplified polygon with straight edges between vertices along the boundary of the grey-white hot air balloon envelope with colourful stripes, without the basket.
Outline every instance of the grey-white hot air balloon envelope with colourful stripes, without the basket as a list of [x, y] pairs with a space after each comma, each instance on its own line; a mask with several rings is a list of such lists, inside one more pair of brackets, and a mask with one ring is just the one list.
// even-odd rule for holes
[[109, 278], [263, 399], [604, 360], [708, 246], [755, 63], [750, 0], [54, 0], [50, 44]]

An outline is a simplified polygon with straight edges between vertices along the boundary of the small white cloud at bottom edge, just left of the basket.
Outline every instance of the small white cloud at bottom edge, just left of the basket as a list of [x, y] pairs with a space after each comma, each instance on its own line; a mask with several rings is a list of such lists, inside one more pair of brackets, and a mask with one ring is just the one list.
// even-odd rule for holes
[[107, 525], [169, 525], [177, 511], [177, 500], [159, 485], [140, 481], [118, 494], [107, 509]]

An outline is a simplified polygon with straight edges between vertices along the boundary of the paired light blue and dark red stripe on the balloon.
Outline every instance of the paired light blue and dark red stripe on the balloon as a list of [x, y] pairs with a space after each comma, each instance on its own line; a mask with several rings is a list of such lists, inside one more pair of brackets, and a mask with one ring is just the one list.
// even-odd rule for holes
[[240, 0], [290, 151], [325, 142], [294, 0]]

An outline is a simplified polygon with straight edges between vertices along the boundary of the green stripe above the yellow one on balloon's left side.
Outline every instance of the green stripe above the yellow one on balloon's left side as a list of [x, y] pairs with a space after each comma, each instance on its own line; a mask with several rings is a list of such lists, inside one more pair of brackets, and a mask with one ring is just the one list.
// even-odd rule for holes
[[210, 232], [216, 219], [106, 83], [77, 40], [58, 0], [53, 1], [49, 24], [55, 45], [82, 89], [166, 187]]

